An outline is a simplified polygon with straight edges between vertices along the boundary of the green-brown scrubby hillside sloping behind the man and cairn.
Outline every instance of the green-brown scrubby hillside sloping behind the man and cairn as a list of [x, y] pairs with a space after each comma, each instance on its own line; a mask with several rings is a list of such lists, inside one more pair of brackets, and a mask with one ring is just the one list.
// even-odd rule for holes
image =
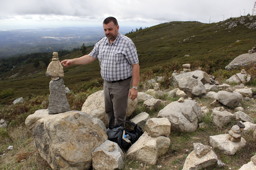
[[[214, 74], [217, 70], [224, 69], [238, 55], [248, 53], [254, 47], [255, 29], [246, 25], [253, 23], [255, 16], [252, 19], [251, 21], [248, 16], [244, 16], [211, 24], [173, 21], [130, 33], [128, 37], [136, 45], [141, 74], [151, 70], [152, 73], [161, 75], [174, 69], [180, 70], [185, 63], [190, 63], [192, 68], [200, 66], [208, 74]], [[237, 26], [229, 29], [234, 21]], [[241, 41], [236, 43], [237, 40]], [[88, 53], [91, 50], [92, 47], [88, 48]], [[80, 56], [82, 53], [76, 51], [67, 57], [60, 56], [60, 60]], [[45, 72], [46, 66], [43, 63], [38, 68], [30, 63], [1, 74], [0, 92], [14, 89], [14, 94], [2, 98], [0, 104], [10, 104], [18, 97], [49, 94], [50, 77], [46, 77]], [[89, 81], [95, 86], [102, 83], [98, 61], [86, 66], [73, 65], [64, 68], [64, 72], [65, 85], [73, 92], [86, 91]], [[145, 76], [141, 77], [143, 79]]]

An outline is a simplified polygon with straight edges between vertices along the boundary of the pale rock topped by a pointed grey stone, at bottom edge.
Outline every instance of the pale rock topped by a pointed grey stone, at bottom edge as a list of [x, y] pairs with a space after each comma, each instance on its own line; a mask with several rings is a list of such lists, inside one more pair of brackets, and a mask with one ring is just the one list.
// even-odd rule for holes
[[182, 170], [199, 170], [217, 164], [218, 157], [212, 147], [202, 143], [193, 143], [193, 145], [194, 150], [186, 158]]

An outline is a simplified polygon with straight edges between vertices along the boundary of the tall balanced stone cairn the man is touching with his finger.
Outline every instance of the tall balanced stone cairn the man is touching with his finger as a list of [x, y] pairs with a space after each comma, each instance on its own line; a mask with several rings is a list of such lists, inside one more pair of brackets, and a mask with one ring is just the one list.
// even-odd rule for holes
[[70, 106], [66, 98], [64, 81], [60, 78], [64, 76], [64, 71], [60, 64], [57, 52], [53, 53], [52, 62], [48, 65], [45, 74], [46, 76], [52, 77], [52, 80], [50, 81], [48, 114], [70, 111]]

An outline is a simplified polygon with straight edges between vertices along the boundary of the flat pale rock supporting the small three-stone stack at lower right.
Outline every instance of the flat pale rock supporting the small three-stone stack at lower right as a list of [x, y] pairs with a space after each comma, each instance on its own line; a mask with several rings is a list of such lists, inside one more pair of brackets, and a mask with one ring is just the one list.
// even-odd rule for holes
[[229, 134], [210, 136], [210, 145], [213, 148], [218, 148], [224, 154], [234, 155], [236, 152], [246, 145], [244, 138], [241, 138], [240, 142], [231, 142], [229, 140]]

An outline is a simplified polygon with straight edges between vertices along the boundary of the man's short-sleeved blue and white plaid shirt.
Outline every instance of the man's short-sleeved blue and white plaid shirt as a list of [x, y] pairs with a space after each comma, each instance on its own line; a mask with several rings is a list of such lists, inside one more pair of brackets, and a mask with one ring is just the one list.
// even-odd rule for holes
[[89, 54], [100, 61], [100, 73], [106, 81], [116, 81], [132, 76], [131, 64], [139, 63], [136, 47], [132, 40], [118, 34], [110, 44], [107, 37], [102, 38]]

